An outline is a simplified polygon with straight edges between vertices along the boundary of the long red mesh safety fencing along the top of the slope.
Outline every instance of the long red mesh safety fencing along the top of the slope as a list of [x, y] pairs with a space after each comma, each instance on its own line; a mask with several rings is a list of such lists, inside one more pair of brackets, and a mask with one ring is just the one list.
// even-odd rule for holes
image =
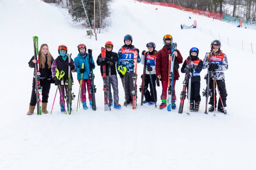
[[214, 19], [219, 19], [222, 20], [223, 19], [223, 14], [217, 13], [217, 12], [210, 12], [210, 11], [203, 11], [203, 10], [197, 10], [197, 9], [190, 9], [190, 8], [185, 8], [182, 7], [178, 4], [173, 4], [173, 3], [163, 3], [163, 2], [147, 2], [147, 1], [141, 1], [141, 0], [136, 0], [145, 4], [152, 4], [152, 5], [160, 5], [160, 6], [168, 6], [168, 7], [172, 7], [172, 8], [177, 8], [179, 10], [182, 11], [188, 11], [188, 12], [192, 12], [193, 14], [196, 15], [203, 15], [209, 18], [213, 18]]

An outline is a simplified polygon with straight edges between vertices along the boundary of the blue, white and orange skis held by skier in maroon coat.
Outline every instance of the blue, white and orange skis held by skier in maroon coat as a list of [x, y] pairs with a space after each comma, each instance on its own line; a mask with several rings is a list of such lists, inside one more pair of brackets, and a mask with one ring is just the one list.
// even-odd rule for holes
[[172, 53], [176, 49], [177, 49], [177, 43], [173, 43], [171, 48], [171, 54], [169, 54], [169, 70], [168, 70], [169, 79], [168, 79], [168, 87], [167, 87], [167, 92], [168, 92], [167, 110], [168, 111], [172, 111], [172, 92], [173, 92], [174, 60], [175, 60], [175, 55]]

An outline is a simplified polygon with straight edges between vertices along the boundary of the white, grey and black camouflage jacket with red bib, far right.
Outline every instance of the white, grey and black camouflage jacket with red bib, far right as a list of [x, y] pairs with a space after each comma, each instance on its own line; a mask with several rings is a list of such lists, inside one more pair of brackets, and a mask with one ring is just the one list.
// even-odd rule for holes
[[[211, 52], [209, 53], [209, 55], [210, 54]], [[211, 55], [210, 61], [211, 61], [210, 63], [215, 63], [215, 64], [218, 64], [219, 66], [219, 68], [215, 70], [216, 72], [215, 79], [216, 80], [225, 79], [225, 75], [223, 71], [228, 70], [227, 55], [222, 53], [222, 51], [220, 50], [217, 55], [214, 55], [214, 54]], [[206, 53], [203, 61], [203, 69], [207, 69], [208, 67], [209, 67], [209, 59], [208, 59], [208, 53]], [[211, 79], [213, 79], [212, 72], [211, 72]]]

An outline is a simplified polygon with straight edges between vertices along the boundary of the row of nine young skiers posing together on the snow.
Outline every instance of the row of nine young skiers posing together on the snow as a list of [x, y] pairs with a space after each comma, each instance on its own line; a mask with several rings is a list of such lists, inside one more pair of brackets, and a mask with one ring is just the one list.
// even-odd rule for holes
[[[134, 99], [137, 99], [137, 63], [144, 65], [144, 71], [141, 75], [142, 85], [140, 91], [142, 92], [142, 101], [141, 105], [148, 103], [148, 105], [155, 105], [157, 101], [156, 85], [160, 86], [159, 81], [162, 83], [162, 94], [161, 94], [161, 104], [159, 109], [163, 109], [167, 106], [167, 95], [172, 94], [171, 96], [171, 108], [176, 109], [176, 93], [175, 85], [176, 80], [179, 79], [179, 64], [183, 62], [182, 55], [178, 49], [173, 49], [173, 39], [172, 36], [167, 34], [163, 38], [164, 46], [161, 50], [156, 50], [156, 44], [154, 42], [147, 43], [146, 47], [148, 50], [143, 50], [141, 57], [139, 55], [140, 51], [138, 48], [135, 48], [132, 45], [132, 36], [127, 34], [124, 36], [124, 45], [119, 49], [118, 53], [113, 52], [113, 42], [107, 41], [105, 43], [106, 52], [104, 56], [102, 53], [97, 58], [97, 65], [100, 66], [101, 76], [104, 80], [106, 75], [106, 92], [108, 96], [108, 107], [114, 104], [114, 108], [120, 109], [121, 105], [119, 104], [119, 95], [118, 95], [118, 78], [117, 73], [119, 74], [122, 85], [125, 92], [125, 101], [124, 106], [132, 104]], [[191, 48], [189, 50], [189, 56], [184, 61], [181, 67], [181, 73], [185, 73], [191, 83], [186, 84], [187, 89], [190, 89], [188, 92], [189, 95], [189, 110], [192, 112], [197, 112], [199, 110], [199, 104], [201, 101], [200, 96], [200, 72], [202, 69], [208, 69], [210, 74], [209, 92], [216, 94], [215, 87], [217, 86], [220, 99], [218, 102], [217, 110], [226, 114], [226, 98], [227, 91], [225, 85], [224, 70], [228, 69], [227, 56], [220, 50], [221, 43], [219, 40], [214, 40], [211, 43], [211, 51], [206, 53], [204, 60], [199, 59], [198, 48]], [[48, 113], [46, 107], [48, 103], [48, 94], [50, 91], [51, 83], [57, 85], [57, 89], [60, 92], [60, 109], [62, 113], [66, 112], [68, 108], [69, 112], [72, 110], [72, 99], [73, 94], [68, 94], [68, 84], [73, 83], [72, 72], [77, 72], [77, 80], [81, 88], [81, 102], [84, 110], [87, 110], [86, 103], [86, 86], [88, 91], [89, 105], [92, 107], [92, 89], [91, 87], [93, 82], [92, 71], [95, 69], [95, 64], [92, 59], [89, 59], [89, 50], [86, 53], [85, 44], [79, 44], [77, 46], [78, 55], [75, 57], [74, 61], [68, 55], [68, 48], [66, 45], [62, 44], [58, 46], [59, 56], [54, 60], [51, 53], [49, 52], [48, 45], [42, 44], [38, 53], [38, 61], [34, 59], [34, 56], [29, 61], [29, 67], [35, 68], [35, 63], [39, 63], [40, 75], [40, 85], [42, 86], [42, 112]], [[173, 60], [173, 70], [174, 77], [172, 77], [172, 89], [170, 90], [170, 58], [174, 56]], [[136, 62], [135, 62], [136, 59]], [[69, 71], [71, 70], [71, 71]], [[69, 74], [70, 73], [70, 74]], [[36, 107], [36, 93], [35, 93], [35, 72], [32, 85], [31, 100], [29, 105], [29, 111], [27, 115], [32, 115]], [[67, 81], [71, 82], [67, 82]], [[188, 87], [190, 85], [190, 87]], [[71, 85], [72, 86], [72, 85]], [[113, 88], [113, 97], [111, 92], [111, 86]], [[150, 91], [148, 90], [150, 87]], [[95, 89], [96, 90], [96, 89]], [[172, 93], [169, 93], [172, 91]], [[57, 90], [56, 90], [57, 92]], [[80, 93], [80, 91], [79, 91]], [[66, 94], [66, 95], [65, 95]], [[136, 95], [135, 95], [136, 94]], [[56, 96], [56, 95], [55, 95]], [[67, 96], [67, 97], [65, 97]], [[70, 97], [71, 96], [71, 97]], [[135, 96], [135, 98], [134, 98]], [[211, 96], [208, 111], [213, 112], [217, 107], [216, 95]], [[145, 100], [143, 100], [145, 97]], [[55, 99], [54, 99], [55, 100]], [[71, 101], [70, 101], [71, 100]], [[79, 97], [78, 97], [79, 100]], [[65, 108], [65, 102], [67, 107]], [[136, 102], [136, 101], [135, 101]], [[78, 104], [77, 104], [78, 106]], [[79, 104], [80, 106], [80, 104]], [[136, 103], [135, 103], [136, 106]], [[136, 107], [135, 107], [136, 108]], [[206, 108], [207, 109], [207, 108]]]

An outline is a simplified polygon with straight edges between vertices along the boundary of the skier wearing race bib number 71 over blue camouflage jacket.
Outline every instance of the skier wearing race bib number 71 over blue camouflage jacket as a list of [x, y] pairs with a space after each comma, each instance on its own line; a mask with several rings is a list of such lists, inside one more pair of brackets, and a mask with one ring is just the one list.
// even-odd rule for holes
[[[124, 102], [124, 106], [130, 104], [132, 102], [132, 88], [133, 88], [133, 50], [137, 50], [138, 52], [138, 59], [137, 63], [140, 63], [140, 55], [139, 55], [139, 49], [135, 48], [132, 45], [132, 35], [126, 34], [124, 36], [124, 45], [119, 49], [118, 51], [118, 59], [116, 62], [116, 69], [118, 74], [120, 75], [120, 78], [122, 80], [123, 85], [125, 86], [125, 98], [127, 101]], [[125, 73], [125, 76], [118, 70], [119, 66], [126, 67], [127, 71]], [[123, 82], [123, 78], [125, 78], [125, 84]]]

